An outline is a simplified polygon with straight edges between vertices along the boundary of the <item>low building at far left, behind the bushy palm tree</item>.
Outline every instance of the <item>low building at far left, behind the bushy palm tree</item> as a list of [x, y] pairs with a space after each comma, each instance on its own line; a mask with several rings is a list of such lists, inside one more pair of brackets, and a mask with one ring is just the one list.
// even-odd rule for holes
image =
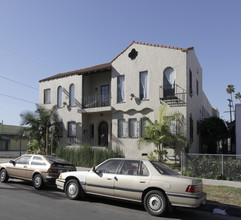
[[20, 152], [28, 149], [28, 140], [18, 138], [21, 129], [20, 126], [0, 124], [0, 155], [10, 155], [14, 151]]

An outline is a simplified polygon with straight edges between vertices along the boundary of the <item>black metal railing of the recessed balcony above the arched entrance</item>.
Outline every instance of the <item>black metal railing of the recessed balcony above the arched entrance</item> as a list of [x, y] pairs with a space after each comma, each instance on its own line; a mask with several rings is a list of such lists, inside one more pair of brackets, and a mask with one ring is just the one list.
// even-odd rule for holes
[[92, 95], [83, 97], [83, 108], [110, 106], [110, 95]]

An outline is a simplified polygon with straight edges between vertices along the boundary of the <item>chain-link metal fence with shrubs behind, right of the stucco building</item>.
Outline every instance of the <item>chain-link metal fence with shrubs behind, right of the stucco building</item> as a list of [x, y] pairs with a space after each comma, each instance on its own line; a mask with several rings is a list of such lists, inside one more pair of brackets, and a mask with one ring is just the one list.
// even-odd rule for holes
[[241, 181], [241, 155], [182, 153], [181, 168], [192, 177]]

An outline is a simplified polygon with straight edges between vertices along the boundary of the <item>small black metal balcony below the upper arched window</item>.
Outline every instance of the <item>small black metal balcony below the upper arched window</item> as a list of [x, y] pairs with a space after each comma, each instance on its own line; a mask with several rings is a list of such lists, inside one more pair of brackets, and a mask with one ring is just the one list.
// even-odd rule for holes
[[177, 84], [160, 86], [160, 100], [171, 107], [185, 106], [187, 92]]

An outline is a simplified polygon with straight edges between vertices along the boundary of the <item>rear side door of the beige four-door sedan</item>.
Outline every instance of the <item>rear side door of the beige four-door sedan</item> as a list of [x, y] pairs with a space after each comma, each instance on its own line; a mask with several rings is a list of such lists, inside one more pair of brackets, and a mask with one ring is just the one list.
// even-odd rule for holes
[[114, 179], [115, 197], [140, 201], [143, 191], [149, 185], [150, 175], [142, 161], [125, 160]]

